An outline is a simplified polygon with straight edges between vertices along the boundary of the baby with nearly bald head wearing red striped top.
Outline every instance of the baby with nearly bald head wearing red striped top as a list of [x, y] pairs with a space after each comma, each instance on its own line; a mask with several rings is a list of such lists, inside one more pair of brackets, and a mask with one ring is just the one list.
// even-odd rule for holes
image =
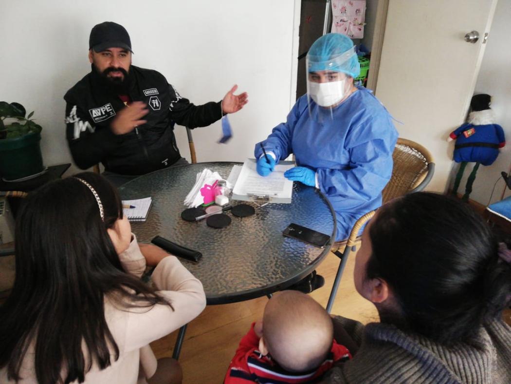
[[297, 291], [275, 294], [263, 321], [253, 323], [231, 360], [225, 384], [307, 382], [338, 360], [351, 358], [333, 337], [332, 319], [313, 298]]

